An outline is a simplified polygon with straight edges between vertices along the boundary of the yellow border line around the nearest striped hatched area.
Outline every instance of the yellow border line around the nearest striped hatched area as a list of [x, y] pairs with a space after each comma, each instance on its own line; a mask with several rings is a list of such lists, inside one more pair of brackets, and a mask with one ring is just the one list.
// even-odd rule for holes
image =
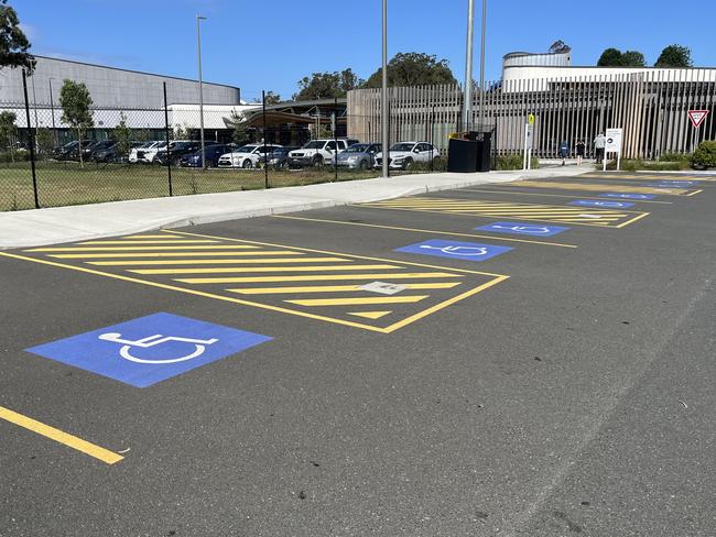
[[[238, 240], [238, 239], [234, 239], [234, 240]], [[471, 291], [469, 291], [467, 293], [463, 293], [458, 297], [455, 297], [455, 298], [449, 299], [449, 300], [445, 300], [445, 302], [443, 302], [441, 304], [437, 304], [437, 305], [433, 306], [432, 308], [428, 308], [427, 310], [425, 310], [426, 313], [424, 313], [424, 315], [416, 314], [414, 316], [411, 316], [411, 317], [408, 317], [408, 318], [403, 319], [400, 322], [397, 322], [395, 325], [391, 325], [391, 326], [389, 326], [387, 328], [380, 328], [380, 327], [373, 327], [373, 326], [370, 326], [370, 325], [362, 325], [360, 322], [352, 322], [352, 321], [349, 321], [349, 320], [336, 319], [336, 318], [326, 317], [326, 316], [323, 316], [323, 315], [311, 314], [308, 311], [297, 311], [295, 309], [283, 308], [283, 307], [280, 307], [280, 306], [272, 306], [270, 304], [254, 303], [254, 302], [251, 302], [251, 300], [243, 300], [243, 299], [235, 298], [235, 297], [231, 297], [231, 296], [216, 295], [214, 293], [206, 293], [206, 292], [198, 291], [198, 289], [177, 287], [175, 285], [162, 284], [162, 283], [159, 283], [159, 282], [148, 282], [145, 280], [139, 280], [139, 278], [134, 278], [134, 277], [131, 277], [131, 276], [124, 276], [124, 275], [121, 275], [121, 274], [112, 274], [112, 273], [109, 273], [109, 272], [95, 271], [93, 268], [87, 268], [87, 267], [84, 267], [84, 266], [66, 265], [66, 264], [63, 264], [63, 263], [57, 263], [55, 261], [47, 261], [47, 260], [42, 260], [42, 259], [36, 259], [36, 257], [29, 257], [26, 255], [19, 255], [19, 254], [7, 253], [7, 252], [0, 252], [0, 255], [2, 255], [4, 257], [12, 257], [12, 259], [18, 259], [18, 260], [22, 260], [22, 261], [30, 261], [30, 262], [33, 262], [33, 263], [40, 263], [40, 264], [48, 265], [48, 266], [57, 266], [57, 267], [61, 267], [61, 268], [68, 268], [70, 271], [84, 272], [86, 274], [94, 274], [96, 276], [105, 276], [105, 277], [110, 277], [110, 278], [115, 278], [115, 280], [121, 280], [123, 282], [131, 282], [131, 283], [135, 283], [135, 284], [148, 285], [150, 287], [156, 287], [156, 288], [160, 288], [160, 289], [176, 291], [178, 293], [186, 293], [188, 295], [200, 296], [200, 297], [204, 297], [204, 298], [213, 298], [213, 299], [216, 299], [216, 300], [224, 300], [224, 302], [228, 302], [228, 303], [232, 303], [232, 304], [241, 304], [243, 306], [252, 306], [252, 307], [256, 307], [256, 308], [268, 309], [268, 310], [271, 310], [271, 311], [279, 311], [279, 313], [282, 313], [282, 314], [295, 315], [295, 316], [299, 316], [299, 317], [306, 317], [308, 319], [323, 320], [323, 321], [326, 321], [326, 322], [333, 322], [335, 325], [343, 325], [343, 326], [348, 326], [348, 327], [352, 327], [352, 328], [362, 328], [364, 330], [370, 330], [370, 331], [379, 332], [379, 333], [391, 333], [394, 330], [397, 330], [397, 329], [399, 329], [399, 328], [401, 328], [401, 327], [403, 327], [405, 325], [409, 325], [413, 320], [419, 320], [419, 319], [425, 317], [426, 315], [430, 315], [430, 314], [435, 313], [435, 311], [437, 311], [437, 310], [440, 310], [440, 309], [442, 309], [444, 307], [447, 307], [447, 306], [449, 306], [452, 304], [455, 304], [456, 302], [458, 302], [462, 298], [466, 298], [466, 297], [468, 297], [470, 295], [475, 295], [475, 294], [477, 294], [477, 293], [479, 293], [479, 292], [481, 292], [481, 291], [484, 291], [484, 289], [486, 289], [488, 287], [491, 287], [492, 285], [496, 285], [496, 284], [509, 278], [509, 276], [506, 276], [506, 275], [502, 275], [502, 274], [490, 274], [490, 273], [484, 273], [484, 272], [482, 273], [474, 272], [473, 274], [492, 276], [493, 280], [491, 280], [490, 282], [487, 282], [486, 284], [482, 284], [482, 285], [480, 285], [480, 286], [478, 286], [478, 287], [476, 287], [476, 288], [474, 288], [474, 289], [471, 289]], [[368, 259], [368, 257], [364, 257], [364, 259]], [[458, 268], [454, 268], [454, 270], [458, 271], [458, 272], [466, 272], [466, 273], [471, 272], [471, 271], [463, 271], [463, 270], [458, 270]]]

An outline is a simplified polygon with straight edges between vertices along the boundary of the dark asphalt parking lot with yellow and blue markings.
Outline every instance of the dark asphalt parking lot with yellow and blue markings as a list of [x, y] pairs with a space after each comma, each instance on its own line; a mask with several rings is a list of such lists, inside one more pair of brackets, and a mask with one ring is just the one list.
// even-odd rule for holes
[[714, 179], [0, 252], [0, 535], [714, 535]]

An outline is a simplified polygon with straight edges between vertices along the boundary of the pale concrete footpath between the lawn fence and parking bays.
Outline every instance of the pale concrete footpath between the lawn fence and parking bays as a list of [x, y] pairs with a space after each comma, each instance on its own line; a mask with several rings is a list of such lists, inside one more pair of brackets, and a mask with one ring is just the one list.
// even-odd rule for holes
[[415, 174], [389, 179], [0, 212], [0, 250], [377, 201], [522, 178], [564, 177], [593, 171], [593, 166], [560, 166], [529, 172]]

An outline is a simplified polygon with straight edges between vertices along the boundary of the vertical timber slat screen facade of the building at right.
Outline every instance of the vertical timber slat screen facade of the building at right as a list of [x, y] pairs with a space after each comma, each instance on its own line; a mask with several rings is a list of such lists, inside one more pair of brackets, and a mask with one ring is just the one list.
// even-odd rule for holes
[[[534, 153], [556, 158], [562, 140], [573, 149], [609, 128], [623, 129], [625, 158], [658, 158], [688, 153], [704, 140], [716, 140], [716, 69], [647, 70], [560, 79], [518, 79], [485, 85], [485, 124], [496, 131], [498, 154], [522, 150], [524, 123], [535, 116]], [[473, 124], [479, 88], [474, 90]], [[457, 85], [389, 89], [390, 142], [432, 141], [442, 152], [462, 129], [463, 90]], [[709, 110], [699, 129], [688, 110]], [[348, 92], [348, 135], [380, 141], [380, 90]]]

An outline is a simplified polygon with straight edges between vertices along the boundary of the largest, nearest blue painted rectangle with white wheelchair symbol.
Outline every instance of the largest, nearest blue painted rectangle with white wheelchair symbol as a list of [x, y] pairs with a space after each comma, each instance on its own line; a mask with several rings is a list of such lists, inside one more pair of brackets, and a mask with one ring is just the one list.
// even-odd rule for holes
[[147, 387], [271, 339], [160, 313], [26, 351], [132, 386]]

